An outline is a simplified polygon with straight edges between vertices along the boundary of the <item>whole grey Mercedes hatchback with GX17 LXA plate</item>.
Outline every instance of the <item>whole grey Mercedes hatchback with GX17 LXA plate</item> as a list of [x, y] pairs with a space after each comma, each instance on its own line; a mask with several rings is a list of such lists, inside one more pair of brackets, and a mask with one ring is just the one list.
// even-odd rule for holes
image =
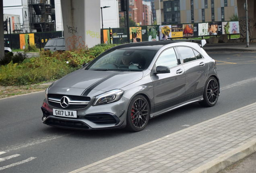
[[42, 121], [71, 129], [141, 131], [149, 119], [184, 105], [212, 107], [220, 84], [205, 43], [115, 46], [45, 90]]

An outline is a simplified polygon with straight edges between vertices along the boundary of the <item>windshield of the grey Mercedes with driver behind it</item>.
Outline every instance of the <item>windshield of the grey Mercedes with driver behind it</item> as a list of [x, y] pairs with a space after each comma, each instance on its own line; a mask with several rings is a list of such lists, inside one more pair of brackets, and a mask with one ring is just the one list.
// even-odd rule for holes
[[156, 50], [116, 49], [98, 56], [86, 70], [142, 71], [151, 62]]

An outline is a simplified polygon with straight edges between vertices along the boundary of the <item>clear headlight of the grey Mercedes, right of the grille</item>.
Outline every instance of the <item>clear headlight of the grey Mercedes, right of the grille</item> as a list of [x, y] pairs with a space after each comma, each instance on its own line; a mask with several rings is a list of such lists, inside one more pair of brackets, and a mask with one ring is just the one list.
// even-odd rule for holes
[[93, 106], [104, 105], [107, 103], [119, 101], [122, 98], [123, 94], [124, 94], [123, 90], [115, 89], [115, 90], [111, 90], [106, 93], [103, 93], [101, 95], [97, 95], [93, 102]]

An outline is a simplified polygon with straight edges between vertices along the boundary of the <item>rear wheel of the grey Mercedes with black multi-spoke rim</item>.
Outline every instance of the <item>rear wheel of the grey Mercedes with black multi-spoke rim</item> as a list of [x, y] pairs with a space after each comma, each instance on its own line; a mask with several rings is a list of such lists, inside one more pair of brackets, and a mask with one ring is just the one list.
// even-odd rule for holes
[[204, 107], [213, 107], [219, 98], [219, 83], [214, 77], [210, 77], [206, 81], [206, 85], [204, 87], [204, 100], [199, 102], [200, 105]]

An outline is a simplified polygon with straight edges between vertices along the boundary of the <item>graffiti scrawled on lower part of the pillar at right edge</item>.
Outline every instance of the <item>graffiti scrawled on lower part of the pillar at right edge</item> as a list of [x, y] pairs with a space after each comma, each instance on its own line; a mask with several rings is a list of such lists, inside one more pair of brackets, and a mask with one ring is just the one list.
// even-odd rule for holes
[[[252, 38], [253, 23], [254, 23], [253, 18], [248, 18], [249, 39]], [[240, 30], [241, 37], [246, 38], [246, 17], [245, 16], [239, 18], [239, 30]]]

